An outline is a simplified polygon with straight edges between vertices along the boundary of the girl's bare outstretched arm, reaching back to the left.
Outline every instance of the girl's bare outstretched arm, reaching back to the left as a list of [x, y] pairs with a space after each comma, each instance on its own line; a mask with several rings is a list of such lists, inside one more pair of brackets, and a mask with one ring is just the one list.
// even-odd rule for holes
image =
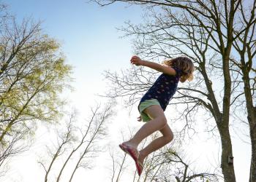
[[132, 56], [131, 63], [136, 66], [147, 66], [159, 72], [169, 75], [176, 75], [176, 71], [170, 66], [162, 66], [158, 63], [153, 63], [147, 60], [141, 60], [138, 56]]

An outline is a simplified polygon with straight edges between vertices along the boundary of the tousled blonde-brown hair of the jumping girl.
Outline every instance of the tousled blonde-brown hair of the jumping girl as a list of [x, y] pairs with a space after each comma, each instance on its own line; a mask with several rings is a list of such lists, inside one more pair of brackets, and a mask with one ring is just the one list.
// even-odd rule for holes
[[181, 76], [184, 76], [187, 80], [192, 81], [193, 72], [195, 71], [195, 66], [187, 57], [178, 57], [170, 60], [164, 60], [162, 62], [166, 66], [176, 67], [181, 70]]

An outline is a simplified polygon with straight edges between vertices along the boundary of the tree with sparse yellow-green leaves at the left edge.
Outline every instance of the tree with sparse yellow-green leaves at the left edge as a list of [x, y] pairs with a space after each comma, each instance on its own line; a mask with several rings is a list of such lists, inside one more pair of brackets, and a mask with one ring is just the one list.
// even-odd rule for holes
[[[4, 10], [1, 10], [1, 12]], [[4, 14], [4, 12], [2, 12]], [[0, 167], [26, 150], [38, 122], [61, 116], [71, 66], [60, 44], [42, 33], [40, 23], [0, 16]], [[3, 171], [3, 170], [1, 170]]]

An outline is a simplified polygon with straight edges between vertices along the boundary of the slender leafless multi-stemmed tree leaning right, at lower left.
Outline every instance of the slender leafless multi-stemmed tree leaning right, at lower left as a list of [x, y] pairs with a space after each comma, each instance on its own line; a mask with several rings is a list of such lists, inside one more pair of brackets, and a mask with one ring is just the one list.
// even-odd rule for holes
[[[56, 147], [48, 146], [48, 162], [44, 159], [39, 160], [39, 164], [45, 170], [45, 182], [48, 181], [49, 173], [51, 178], [56, 175], [54, 180], [61, 181], [61, 176], [64, 175], [64, 170], [67, 167], [72, 167], [65, 175], [70, 175], [69, 181], [72, 181], [75, 172], [83, 167], [90, 169], [93, 167], [93, 160], [97, 157], [102, 149], [99, 149], [97, 143], [107, 135], [106, 123], [113, 116], [113, 102], [105, 104], [105, 106], [96, 106], [91, 108], [91, 116], [84, 125], [76, 122], [76, 114], [71, 114], [66, 127], [66, 132], [59, 134], [57, 130], [58, 143]], [[75, 135], [79, 132], [80, 135]], [[53, 165], [59, 170], [53, 172]], [[75, 164], [75, 166], [73, 166]], [[55, 167], [56, 168], [56, 167]], [[51, 180], [52, 181], [52, 180]]]

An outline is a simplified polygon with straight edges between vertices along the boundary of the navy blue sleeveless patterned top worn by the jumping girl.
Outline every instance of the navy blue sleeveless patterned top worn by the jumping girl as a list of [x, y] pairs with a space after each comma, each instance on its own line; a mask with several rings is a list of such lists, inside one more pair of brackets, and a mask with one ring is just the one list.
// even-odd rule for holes
[[170, 99], [177, 90], [178, 81], [181, 77], [181, 70], [176, 67], [173, 67], [173, 69], [176, 71], [176, 75], [161, 74], [148, 92], [143, 95], [140, 103], [145, 100], [157, 99], [162, 107], [162, 110], [165, 111]]

